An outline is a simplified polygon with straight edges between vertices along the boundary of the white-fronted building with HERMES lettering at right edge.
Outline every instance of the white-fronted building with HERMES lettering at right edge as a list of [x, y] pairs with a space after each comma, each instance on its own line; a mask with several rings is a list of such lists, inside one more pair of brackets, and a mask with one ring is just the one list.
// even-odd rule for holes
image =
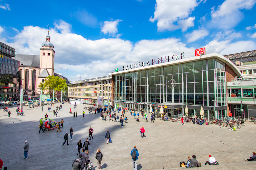
[[225, 55], [237, 65], [243, 77], [227, 82], [228, 105], [232, 116], [256, 116], [256, 50]]

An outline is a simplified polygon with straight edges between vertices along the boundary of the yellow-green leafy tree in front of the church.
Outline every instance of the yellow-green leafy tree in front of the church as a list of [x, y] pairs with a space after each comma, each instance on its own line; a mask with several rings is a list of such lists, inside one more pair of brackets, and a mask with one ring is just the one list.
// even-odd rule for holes
[[39, 88], [43, 88], [43, 92], [50, 94], [53, 97], [53, 89], [56, 91], [67, 90], [68, 86], [66, 80], [61, 79], [58, 76], [48, 76], [44, 79], [44, 83], [40, 83]]

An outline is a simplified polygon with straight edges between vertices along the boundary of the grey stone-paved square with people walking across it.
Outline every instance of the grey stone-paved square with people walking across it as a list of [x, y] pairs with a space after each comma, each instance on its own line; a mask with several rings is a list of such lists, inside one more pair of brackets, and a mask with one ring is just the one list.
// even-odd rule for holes
[[[55, 104], [59, 106], [60, 104]], [[85, 105], [84, 105], [85, 106]], [[130, 152], [134, 145], [139, 151], [138, 170], [160, 170], [160, 169], [181, 169], [180, 161], [187, 161], [187, 157], [195, 154], [197, 160], [204, 164], [211, 154], [220, 165], [206, 165], [194, 169], [256, 169], [256, 162], [247, 162], [244, 158], [249, 158], [252, 152], [256, 152], [256, 125], [246, 121], [246, 126], [242, 126], [237, 131], [228, 130], [225, 127], [216, 125], [194, 125], [185, 123], [184, 126], [171, 121], [161, 121], [156, 119], [155, 123], [141, 122], [133, 120], [133, 116], [126, 113], [129, 123], [112, 121], [100, 121], [99, 114], [88, 114], [85, 110], [85, 117], [82, 116], [84, 110], [82, 105], [77, 105], [77, 109], [69, 104], [64, 104], [63, 109], [58, 111], [57, 118], [53, 112], [48, 112], [44, 106], [41, 108], [24, 107], [24, 116], [17, 116], [15, 107], [10, 107], [11, 117], [7, 112], [3, 112], [0, 107], [0, 158], [4, 161], [3, 167], [10, 170], [27, 169], [53, 169], [70, 170], [72, 162], [76, 159], [76, 143], [79, 139], [84, 142], [89, 137], [88, 129], [91, 126], [93, 139], [90, 140], [89, 159], [98, 170], [95, 154], [97, 149], [103, 153], [102, 169], [132, 169]], [[78, 117], [73, 118], [69, 114], [69, 108], [78, 112]], [[38, 133], [39, 119], [45, 114], [55, 121], [64, 120], [64, 128], [56, 133], [57, 129]], [[118, 114], [119, 116], [121, 115]], [[140, 128], [145, 127], [146, 137], [141, 138]], [[69, 138], [69, 145], [65, 144], [64, 134], [73, 127], [73, 140]], [[111, 143], [107, 144], [105, 134], [109, 130]], [[24, 141], [30, 144], [28, 159], [23, 159]]]

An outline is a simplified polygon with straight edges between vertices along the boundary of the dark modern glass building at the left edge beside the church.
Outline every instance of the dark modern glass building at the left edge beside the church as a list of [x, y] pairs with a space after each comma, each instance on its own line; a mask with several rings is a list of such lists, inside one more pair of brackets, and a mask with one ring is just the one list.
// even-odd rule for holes
[[17, 100], [19, 93], [19, 61], [16, 50], [0, 42], [0, 100]]

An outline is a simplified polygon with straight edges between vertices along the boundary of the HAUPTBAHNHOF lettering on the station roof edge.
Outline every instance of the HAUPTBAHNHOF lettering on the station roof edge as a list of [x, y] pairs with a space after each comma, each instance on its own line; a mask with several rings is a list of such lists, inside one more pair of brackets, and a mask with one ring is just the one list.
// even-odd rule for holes
[[[160, 64], [160, 63], [164, 63], [164, 62], [169, 62], [169, 61], [176, 61], [177, 59], [185, 59], [184, 55], [183, 55], [184, 52], [181, 52], [180, 53], [180, 58], [178, 57], [177, 54], [174, 54], [172, 55], [172, 57], [169, 57], [168, 56], [165, 56], [165, 58], [161, 57], [161, 58], [157, 58], [156, 59], [152, 59], [151, 61], [148, 60], [147, 62], [138, 62], [138, 63], [134, 63], [134, 64], [130, 64], [129, 66], [126, 65], [126, 66], [123, 66], [123, 71], [124, 70], [130, 70], [130, 69], [133, 69], [133, 68], [139, 68], [139, 67], [145, 67], [145, 66], [149, 66], [149, 65], [155, 65], [155, 64]], [[183, 58], [182, 58], [183, 57]], [[150, 61], [150, 62], [149, 62]]]

